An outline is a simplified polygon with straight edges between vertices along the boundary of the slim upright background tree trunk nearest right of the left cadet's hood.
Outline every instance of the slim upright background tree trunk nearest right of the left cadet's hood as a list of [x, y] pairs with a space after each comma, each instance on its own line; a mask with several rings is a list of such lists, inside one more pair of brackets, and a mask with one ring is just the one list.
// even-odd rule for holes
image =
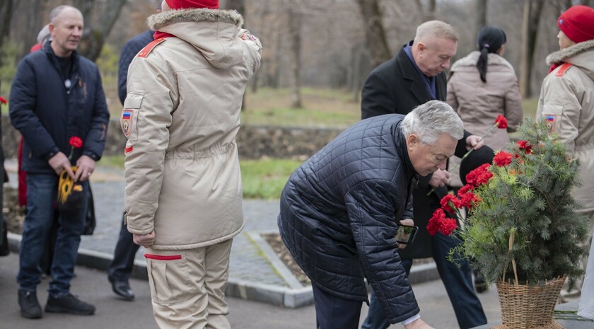
[[291, 42], [291, 108], [303, 108], [301, 103], [301, 12], [289, 7], [289, 40]]

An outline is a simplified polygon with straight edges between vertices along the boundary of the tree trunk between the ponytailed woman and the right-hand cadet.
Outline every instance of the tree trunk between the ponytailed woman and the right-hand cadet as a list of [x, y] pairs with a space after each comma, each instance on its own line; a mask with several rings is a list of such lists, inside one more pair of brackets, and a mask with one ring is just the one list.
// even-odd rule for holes
[[530, 77], [536, 49], [538, 23], [544, 0], [524, 0], [522, 18], [522, 54], [520, 59], [520, 94], [523, 98], [532, 96], [530, 91]]

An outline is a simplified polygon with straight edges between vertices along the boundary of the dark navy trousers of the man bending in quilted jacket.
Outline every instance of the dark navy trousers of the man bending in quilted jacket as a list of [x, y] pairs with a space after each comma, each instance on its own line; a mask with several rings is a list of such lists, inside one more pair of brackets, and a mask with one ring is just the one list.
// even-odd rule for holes
[[362, 301], [351, 301], [328, 294], [315, 283], [311, 287], [317, 329], [359, 329]]

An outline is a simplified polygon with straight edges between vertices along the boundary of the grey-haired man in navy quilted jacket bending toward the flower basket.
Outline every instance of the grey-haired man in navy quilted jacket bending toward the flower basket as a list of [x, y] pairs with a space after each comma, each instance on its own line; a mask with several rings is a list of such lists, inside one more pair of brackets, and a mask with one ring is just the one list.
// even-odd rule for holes
[[[408, 115], [371, 117], [346, 129], [305, 161], [281, 195], [278, 224], [291, 255], [313, 287], [321, 329], [356, 329], [364, 278], [390, 323], [431, 328], [400, 265], [398, 224], [412, 222], [419, 176], [443, 170], [458, 139], [477, 146], [446, 103], [431, 100]], [[461, 148], [461, 150], [457, 149]], [[404, 245], [400, 245], [403, 247]]]

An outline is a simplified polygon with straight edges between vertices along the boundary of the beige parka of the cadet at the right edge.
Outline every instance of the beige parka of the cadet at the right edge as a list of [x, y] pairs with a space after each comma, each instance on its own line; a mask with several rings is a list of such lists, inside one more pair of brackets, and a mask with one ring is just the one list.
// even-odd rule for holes
[[[547, 120], [571, 156], [580, 160], [581, 187], [573, 197], [583, 211], [594, 210], [594, 40], [577, 43], [547, 56], [547, 64], [565, 62], [544, 81], [537, 120]], [[570, 66], [571, 64], [571, 66]]]

